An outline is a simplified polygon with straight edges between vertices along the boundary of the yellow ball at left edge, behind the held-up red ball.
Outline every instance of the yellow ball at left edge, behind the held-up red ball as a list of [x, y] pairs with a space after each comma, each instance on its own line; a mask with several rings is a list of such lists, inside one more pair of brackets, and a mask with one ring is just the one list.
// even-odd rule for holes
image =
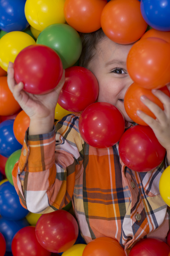
[[5, 71], [8, 69], [9, 61], [15, 58], [25, 47], [36, 44], [35, 40], [27, 33], [12, 31], [0, 39], [0, 66]]

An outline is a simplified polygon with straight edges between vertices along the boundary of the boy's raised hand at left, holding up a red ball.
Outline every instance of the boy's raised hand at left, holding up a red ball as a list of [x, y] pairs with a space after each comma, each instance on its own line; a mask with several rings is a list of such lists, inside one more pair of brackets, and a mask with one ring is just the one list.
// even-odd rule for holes
[[[16, 101], [20, 104], [21, 108], [30, 117], [31, 121], [29, 134], [41, 134], [51, 131], [51, 129], [53, 129], [53, 127], [51, 128], [51, 126], [54, 125], [55, 107], [58, 101], [60, 91], [65, 82], [65, 70], [63, 70], [62, 78], [57, 87], [53, 91], [42, 95], [35, 95], [23, 91], [22, 89], [24, 85], [22, 82], [16, 84], [16, 81], [14, 79], [14, 68], [12, 62], [9, 62], [7, 72], [7, 82], [9, 89], [13, 93]], [[36, 127], [33, 128], [33, 126]]]

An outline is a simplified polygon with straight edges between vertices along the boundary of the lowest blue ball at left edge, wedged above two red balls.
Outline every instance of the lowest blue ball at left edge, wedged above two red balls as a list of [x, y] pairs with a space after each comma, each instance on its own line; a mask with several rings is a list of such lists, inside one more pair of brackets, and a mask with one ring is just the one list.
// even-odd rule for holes
[[25, 218], [17, 221], [0, 218], [0, 232], [5, 238], [7, 252], [11, 252], [11, 242], [14, 235], [18, 230], [26, 226], [29, 226], [29, 223]]

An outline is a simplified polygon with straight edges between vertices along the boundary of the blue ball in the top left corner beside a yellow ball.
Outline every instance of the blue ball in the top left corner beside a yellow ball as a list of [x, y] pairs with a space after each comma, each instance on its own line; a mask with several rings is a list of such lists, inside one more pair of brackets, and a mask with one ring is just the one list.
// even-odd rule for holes
[[29, 26], [25, 18], [26, 0], [0, 1], [0, 29], [6, 32], [22, 31]]

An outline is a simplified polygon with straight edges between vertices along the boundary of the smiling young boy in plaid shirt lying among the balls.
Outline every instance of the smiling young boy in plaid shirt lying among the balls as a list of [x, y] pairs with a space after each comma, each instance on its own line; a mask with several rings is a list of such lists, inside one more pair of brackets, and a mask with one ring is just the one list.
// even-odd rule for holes
[[[125, 118], [126, 128], [135, 125], [123, 103], [125, 92], [133, 82], [126, 69], [132, 45], [114, 43], [102, 29], [82, 34], [81, 38], [80, 66], [96, 76], [98, 101], [115, 105]], [[54, 128], [54, 110], [63, 84], [64, 73], [52, 92], [26, 93], [22, 90], [23, 83], [15, 84], [13, 64], [9, 63], [9, 88], [30, 116], [21, 156], [12, 172], [21, 204], [31, 212], [48, 213], [72, 200], [85, 241], [111, 237], [119, 241], [126, 255], [142, 238], [159, 238], [166, 242], [170, 208], [160, 196], [159, 179], [170, 163], [169, 97], [160, 90], [153, 90], [164, 104], [164, 111], [145, 96], [141, 97], [156, 120], [140, 111], [138, 115], [153, 129], [167, 155], [154, 170], [138, 173], [122, 163], [118, 144], [97, 149], [83, 141], [78, 128], [80, 113], [64, 117]]]

